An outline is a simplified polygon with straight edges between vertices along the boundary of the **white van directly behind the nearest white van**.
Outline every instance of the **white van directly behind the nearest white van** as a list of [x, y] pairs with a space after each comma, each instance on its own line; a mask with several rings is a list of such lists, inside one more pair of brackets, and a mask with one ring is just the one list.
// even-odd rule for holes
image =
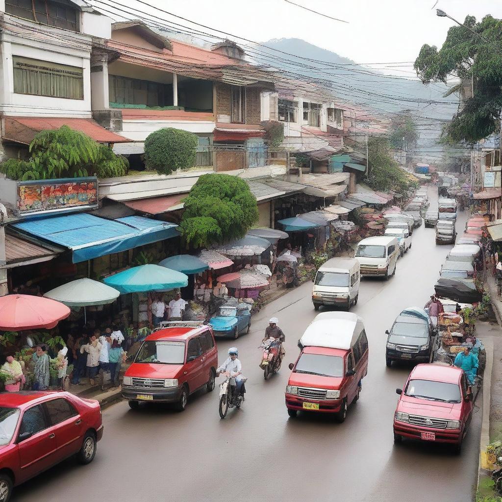
[[384, 276], [388, 280], [396, 273], [398, 258], [398, 239], [391, 235], [362, 239], [355, 250], [361, 276]]

